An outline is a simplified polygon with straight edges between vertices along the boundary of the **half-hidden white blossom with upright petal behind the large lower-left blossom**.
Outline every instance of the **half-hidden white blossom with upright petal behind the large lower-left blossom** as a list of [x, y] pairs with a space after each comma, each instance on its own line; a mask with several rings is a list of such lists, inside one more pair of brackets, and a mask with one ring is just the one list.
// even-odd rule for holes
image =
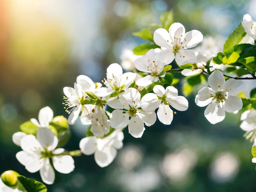
[[43, 107], [40, 109], [38, 114], [38, 121], [35, 118], [31, 118], [30, 121], [37, 127], [48, 127], [49, 123], [52, 121], [53, 111], [50, 107]]

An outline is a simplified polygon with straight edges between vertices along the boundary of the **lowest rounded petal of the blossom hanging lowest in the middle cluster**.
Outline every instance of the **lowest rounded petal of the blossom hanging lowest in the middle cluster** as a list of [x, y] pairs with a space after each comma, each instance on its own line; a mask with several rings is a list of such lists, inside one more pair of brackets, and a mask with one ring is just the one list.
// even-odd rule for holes
[[97, 150], [94, 154], [94, 159], [100, 167], [106, 167], [112, 163], [116, 156], [117, 150], [114, 147], [109, 147], [103, 151]]

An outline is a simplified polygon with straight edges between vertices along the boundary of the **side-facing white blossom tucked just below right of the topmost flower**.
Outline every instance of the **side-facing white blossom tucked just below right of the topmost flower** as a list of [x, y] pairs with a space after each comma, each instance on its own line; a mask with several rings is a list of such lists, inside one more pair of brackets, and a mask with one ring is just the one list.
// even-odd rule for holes
[[194, 66], [192, 69], [183, 69], [181, 71], [181, 74], [184, 76], [192, 76], [192, 75], [197, 75], [203, 72], [203, 70], [205, 69], [206, 66], [206, 62], [208, 60], [206, 54], [201, 53], [201, 52], [195, 52], [195, 56], [196, 56], [196, 66], [194, 69]]

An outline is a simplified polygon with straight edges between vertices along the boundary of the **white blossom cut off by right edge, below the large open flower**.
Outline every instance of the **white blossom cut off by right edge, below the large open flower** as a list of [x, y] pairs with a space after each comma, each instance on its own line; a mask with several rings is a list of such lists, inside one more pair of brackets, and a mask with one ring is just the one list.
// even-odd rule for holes
[[[255, 138], [255, 129], [256, 129], [256, 109], [246, 110], [241, 114], [240, 120], [242, 121], [240, 128], [247, 132], [247, 137], [252, 136], [252, 139]], [[254, 145], [256, 145], [254, 140]]]

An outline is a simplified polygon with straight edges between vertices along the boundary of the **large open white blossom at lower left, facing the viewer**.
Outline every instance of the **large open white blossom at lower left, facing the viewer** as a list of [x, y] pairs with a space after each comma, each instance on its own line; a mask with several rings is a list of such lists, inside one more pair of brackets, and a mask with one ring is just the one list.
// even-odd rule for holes
[[50, 164], [52, 159], [54, 168], [61, 173], [67, 174], [74, 170], [74, 160], [70, 155], [61, 155], [63, 148], [55, 149], [58, 145], [58, 138], [47, 128], [39, 128], [36, 137], [27, 135], [20, 140], [20, 147], [23, 151], [16, 154], [18, 161], [31, 172], [40, 170], [43, 182], [54, 183], [55, 173]]

